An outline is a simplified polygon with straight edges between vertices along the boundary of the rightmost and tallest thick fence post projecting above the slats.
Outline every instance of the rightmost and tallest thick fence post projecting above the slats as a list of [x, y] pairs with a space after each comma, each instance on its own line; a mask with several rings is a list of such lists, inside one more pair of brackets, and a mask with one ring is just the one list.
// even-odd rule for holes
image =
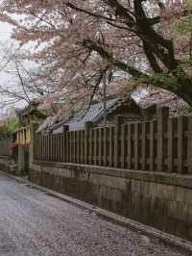
[[163, 171], [163, 147], [164, 132], [166, 130], [169, 117], [169, 108], [163, 107], [157, 114], [157, 170]]

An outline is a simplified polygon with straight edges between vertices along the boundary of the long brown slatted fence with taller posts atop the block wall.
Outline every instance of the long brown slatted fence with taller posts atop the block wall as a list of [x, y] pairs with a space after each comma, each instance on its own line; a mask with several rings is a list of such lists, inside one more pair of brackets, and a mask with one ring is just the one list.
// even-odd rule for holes
[[169, 110], [159, 110], [157, 118], [145, 122], [122, 123], [82, 131], [40, 136], [34, 141], [38, 161], [77, 163], [129, 169], [192, 174], [192, 116], [169, 118]]

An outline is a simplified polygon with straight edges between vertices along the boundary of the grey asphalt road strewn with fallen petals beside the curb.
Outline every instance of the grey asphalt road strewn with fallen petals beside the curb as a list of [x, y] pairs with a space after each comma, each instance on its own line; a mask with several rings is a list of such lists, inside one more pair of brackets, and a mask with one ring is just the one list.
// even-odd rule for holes
[[0, 173], [0, 255], [186, 255]]

